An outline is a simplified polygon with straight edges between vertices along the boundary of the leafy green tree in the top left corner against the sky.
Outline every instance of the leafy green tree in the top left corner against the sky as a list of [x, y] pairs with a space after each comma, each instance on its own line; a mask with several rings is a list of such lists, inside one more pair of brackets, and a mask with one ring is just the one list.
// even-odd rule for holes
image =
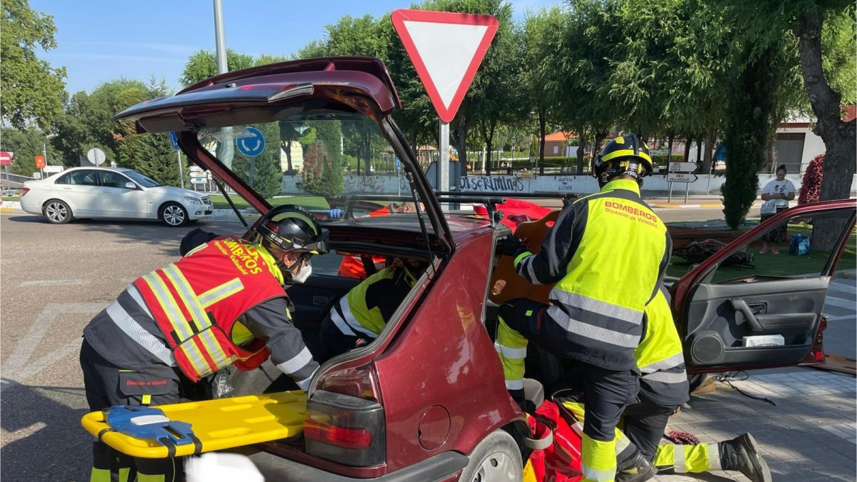
[[64, 67], [54, 69], [36, 57], [36, 46], [57, 47], [53, 17], [30, 9], [27, 0], [3, 2], [0, 20], [0, 91], [3, 122], [18, 130], [30, 125], [49, 132], [63, 113], [66, 76]]

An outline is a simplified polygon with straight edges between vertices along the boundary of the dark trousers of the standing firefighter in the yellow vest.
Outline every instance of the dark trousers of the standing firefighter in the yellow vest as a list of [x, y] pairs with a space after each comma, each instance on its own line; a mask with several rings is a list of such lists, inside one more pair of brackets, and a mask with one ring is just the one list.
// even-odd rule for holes
[[[547, 323], [553, 323], [547, 313], [547, 304], [530, 299], [512, 299], [500, 305], [503, 321], [524, 337], [561, 358], [561, 351], [548, 334]], [[584, 433], [602, 442], [613, 440], [616, 424], [622, 411], [637, 400], [639, 378], [631, 370], [614, 371], [588, 363], [576, 362], [578, 376], [584, 385]]]

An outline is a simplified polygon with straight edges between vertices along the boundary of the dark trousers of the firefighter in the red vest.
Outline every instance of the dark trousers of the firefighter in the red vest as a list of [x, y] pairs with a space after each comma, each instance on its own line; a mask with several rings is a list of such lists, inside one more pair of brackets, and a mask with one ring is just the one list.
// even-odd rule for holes
[[[123, 370], [102, 357], [87, 340], [83, 340], [81, 346], [81, 368], [87, 403], [93, 412], [114, 405], [162, 405], [176, 403], [179, 399], [175, 380]], [[138, 481], [169, 482], [183, 479], [181, 466], [180, 458], [133, 458], [105, 443], [93, 443], [92, 480], [99, 482], [124, 482], [135, 478]]]

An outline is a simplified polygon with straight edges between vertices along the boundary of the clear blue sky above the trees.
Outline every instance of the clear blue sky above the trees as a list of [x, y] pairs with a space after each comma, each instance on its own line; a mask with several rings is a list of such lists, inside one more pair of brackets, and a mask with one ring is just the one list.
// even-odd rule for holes
[[[514, 0], [515, 19], [558, 0]], [[408, 0], [222, 0], [227, 48], [258, 56], [289, 55], [324, 36], [342, 15], [384, 15], [409, 8]], [[119, 77], [154, 75], [173, 89], [195, 51], [214, 50], [213, 0], [30, 0], [52, 15], [57, 48], [39, 51], [52, 67], [64, 66], [69, 94], [92, 92]]]

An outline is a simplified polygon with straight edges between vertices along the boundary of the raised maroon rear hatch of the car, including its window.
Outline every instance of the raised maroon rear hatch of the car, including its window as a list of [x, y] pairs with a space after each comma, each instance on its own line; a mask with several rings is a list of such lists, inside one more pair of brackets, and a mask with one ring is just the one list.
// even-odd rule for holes
[[440, 204], [391, 117], [400, 106], [381, 60], [330, 57], [217, 75], [115, 118], [176, 131], [189, 159], [260, 213], [294, 203], [347, 228], [408, 202], [413, 229], [451, 253]]

